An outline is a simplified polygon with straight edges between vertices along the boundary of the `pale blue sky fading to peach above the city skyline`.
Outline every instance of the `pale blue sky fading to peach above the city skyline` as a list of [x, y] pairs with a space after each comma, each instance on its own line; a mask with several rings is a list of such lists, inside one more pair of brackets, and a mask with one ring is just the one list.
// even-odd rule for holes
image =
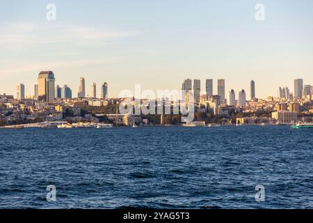
[[[56, 20], [47, 20], [47, 4]], [[257, 3], [265, 7], [255, 19]], [[259, 98], [313, 85], [312, 0], [10, 0], [0, 3], [0, 93], [33, 95], [41, 70], [77, 95], [79, 77], [120, 91], [181, 89], [184, 79], [225, 79]]]

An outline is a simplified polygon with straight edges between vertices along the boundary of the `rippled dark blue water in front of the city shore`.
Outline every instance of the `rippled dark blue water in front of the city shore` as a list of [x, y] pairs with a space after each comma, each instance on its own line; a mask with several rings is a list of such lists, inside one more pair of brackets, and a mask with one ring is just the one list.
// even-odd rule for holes
[[0, 130], [0, 208], [313, 208], [312, 151], [286, 126]]

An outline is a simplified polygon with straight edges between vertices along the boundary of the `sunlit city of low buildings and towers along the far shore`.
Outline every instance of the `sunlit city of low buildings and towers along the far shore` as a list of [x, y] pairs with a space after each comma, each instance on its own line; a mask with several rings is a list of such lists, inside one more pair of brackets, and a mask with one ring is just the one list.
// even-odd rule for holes
[[[21, 123], [39, 123], [40, 121], [109, 122], [116, 125], [131, 124], [179, 124], [182, 114], [134, 115], [119, 114], [118, 106], [124, 98], [109, 98], [108, 84], [104, 82], [97, 92], [97, 84], [90, 85], [90, 93], [86, 93], [86, 82], [79, 79], [77, 97], [67, 84], [56, 85], [56, 77], [52, 71], [42, 71], [38, 82], [34, 85], [34, 94], [25, 95], [24, 84], [17, 85], [17, 97], [0, 95], [0, 126]], [[257, 98], [256, 83], [250, 81], [250, 98], [241, 89], [238, 93], [231, 89], [225, 94], [225, 79], [217, 80], [217, 94], [214, 94], [214, 80], [205, 80], [205, 91], [201, 91], [200, 79], [185, 79], [182, 83], [182, 95], [177, 98], [163, 98], [163, 105], [168, 100], [171, 110], [177, 105], [188, 108], [194, 103], [194, 123], [222, 124], [257, 124], [257, 123], [296, 123], [312, 121], [313, 88], [304, 84], [303, 79], [294, 80], [294, 93], [287, 86], [279, 87], [278, 96]], [[189, 98], [192, 91], [193, 98]], [[98, 96], [99, 95], [99, 96]], [[139, 107], [145, 99], [141, 99]], [[163, 106], [161, 105], [161, 106]], [[137, 107], [136, 102], [132, 105]], [[159, 105], [157, 105], [159, 106]]]

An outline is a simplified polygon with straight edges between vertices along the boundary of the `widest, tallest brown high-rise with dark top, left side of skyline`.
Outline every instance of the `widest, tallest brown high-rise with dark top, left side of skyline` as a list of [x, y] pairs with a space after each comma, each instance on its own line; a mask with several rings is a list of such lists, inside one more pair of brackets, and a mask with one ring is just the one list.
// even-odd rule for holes
[[40, 101], [52, 101], [55, 96], [54, 83], [54, 72], [42, 71], [38, 75], [38, 100]]

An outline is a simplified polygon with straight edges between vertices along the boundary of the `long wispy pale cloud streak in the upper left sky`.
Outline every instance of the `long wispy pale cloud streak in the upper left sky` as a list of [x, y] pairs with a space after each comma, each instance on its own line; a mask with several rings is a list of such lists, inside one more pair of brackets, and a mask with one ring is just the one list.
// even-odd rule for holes
[[63, 22], [9, 22], [0, 26], [0, 45], [27, 47], [56, 43], [110, 43], [118, 38], [138, 36], [142, 31], [111, 31], [92, 26], [77, 26]]

